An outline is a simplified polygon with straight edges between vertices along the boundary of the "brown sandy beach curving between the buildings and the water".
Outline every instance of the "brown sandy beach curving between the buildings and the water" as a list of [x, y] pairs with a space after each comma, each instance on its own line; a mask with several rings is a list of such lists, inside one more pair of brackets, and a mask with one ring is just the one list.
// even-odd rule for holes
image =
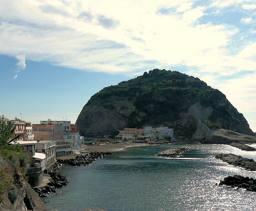
[[[119, 143], [113, 143], [113, 144], [107, 144], [107, 145], [97, 145], [97, 146], [85, 146], [87, 151], [84, 152], [115, 152], [120, 150], [125, 150], [128, 147], [135, 147], [135, 146], [147, 146], [150, 144], [147, 143], [130, 143], [130, 144], [119, 144]], [[89, 150], [89, 151], [88, 151]], [[83, 153], [83, 151], [82, 151]], [[57, 159], [71, 159], [75, 158], [77, 154], [71, 154], [66, 156], [59, 156]]]

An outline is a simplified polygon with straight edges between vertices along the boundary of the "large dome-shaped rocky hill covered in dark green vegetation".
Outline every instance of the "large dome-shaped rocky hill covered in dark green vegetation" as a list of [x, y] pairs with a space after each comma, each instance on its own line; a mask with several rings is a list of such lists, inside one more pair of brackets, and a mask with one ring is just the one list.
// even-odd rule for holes
[[223, 128], [255, 136], [219, 90], [198, 78], [158, 69], [93, 95], [76, 124], [81, 132], [93, 134], [166, 126], [177, 135], [193, 137], [203, 124], [206, 130]]

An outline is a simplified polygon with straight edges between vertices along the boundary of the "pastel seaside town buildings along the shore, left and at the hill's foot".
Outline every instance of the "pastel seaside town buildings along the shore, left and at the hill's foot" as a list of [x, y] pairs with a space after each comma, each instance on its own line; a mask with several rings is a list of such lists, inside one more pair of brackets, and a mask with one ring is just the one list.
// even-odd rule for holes
[[31, 187], [38, 187], [43, 181], [44, 170], [54, 165], [58, 157], [88, 152], [90, 146], [107, 144], [166, 144], [175, 140], [173, 129], [168, 127], [145, 127], [144, 129], [124, 128], [115, 139], [110, 135], [84, 137], [77, 131], [77, 124], [71, 121], [40, 121], [40, 124], [31, 124], [19, 117], [14, 120], [4, 118], [6, 124], [12, 125], [12, 142], [19, 144], [24, 152], [29, 152], [30, 166], [27, 166], [26, 176]]

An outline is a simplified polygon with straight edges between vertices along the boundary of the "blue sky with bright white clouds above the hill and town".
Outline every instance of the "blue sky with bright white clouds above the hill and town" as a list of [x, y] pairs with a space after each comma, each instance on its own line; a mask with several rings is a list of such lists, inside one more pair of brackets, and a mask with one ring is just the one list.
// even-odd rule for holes
[[0, 0], [0, 114], [75, 123], [110, 85], [166, 69], [220, 90], [256, 132], [256, 1]]

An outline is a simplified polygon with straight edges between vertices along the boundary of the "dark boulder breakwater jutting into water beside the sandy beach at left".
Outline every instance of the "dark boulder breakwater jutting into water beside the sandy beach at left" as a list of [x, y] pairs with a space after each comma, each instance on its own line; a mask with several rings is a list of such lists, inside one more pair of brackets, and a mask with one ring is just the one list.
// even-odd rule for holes
[[83, 166], [83, 165], [89, 165], [90, 163], [94, 162], [97, 158], [103, 158], [108, 155], [111, 155], [111, 152], [91, 152], [91, 153], [85, 153], [76, 156], [76, 158], [71, 158], [71, 159], [58, 159], [57, 161], [59, 163], [66, 163], [69, 165], [78, 165], [78, 166]]

